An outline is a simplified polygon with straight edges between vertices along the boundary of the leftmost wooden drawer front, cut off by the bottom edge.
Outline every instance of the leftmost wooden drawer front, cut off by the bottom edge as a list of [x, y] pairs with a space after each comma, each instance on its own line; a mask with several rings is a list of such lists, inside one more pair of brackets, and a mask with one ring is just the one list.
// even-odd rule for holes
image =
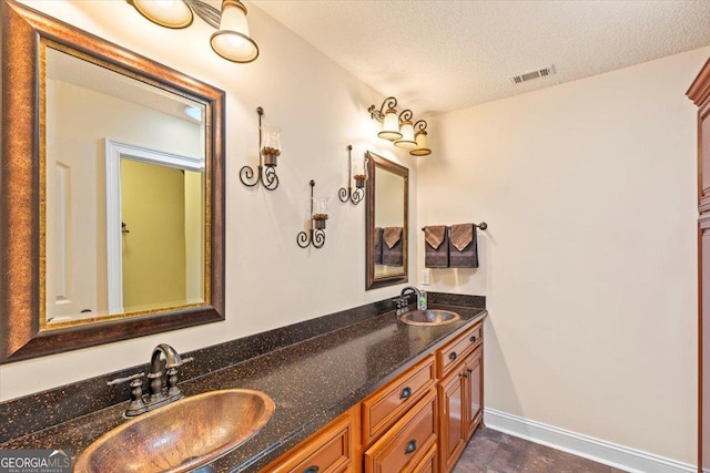
[[341, 473], [353, 456], [351, 411], [298, 444], [262, 473]]

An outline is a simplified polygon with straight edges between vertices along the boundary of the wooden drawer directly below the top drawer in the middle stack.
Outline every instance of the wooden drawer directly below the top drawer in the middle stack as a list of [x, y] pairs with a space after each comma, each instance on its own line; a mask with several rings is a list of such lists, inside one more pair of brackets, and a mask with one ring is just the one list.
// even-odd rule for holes
[[428, 393], [365, 452], [365, 473], [410, 471], [436, 443], [436, 391]]

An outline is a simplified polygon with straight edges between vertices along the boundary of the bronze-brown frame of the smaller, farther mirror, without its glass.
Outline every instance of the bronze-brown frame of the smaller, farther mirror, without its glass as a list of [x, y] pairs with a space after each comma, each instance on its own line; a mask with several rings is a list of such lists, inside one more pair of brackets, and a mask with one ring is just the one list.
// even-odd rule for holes
[[[367, 193], [365, 196], [365, 289], [404, 284], [409, 280], [409, 169], [400, 164], [382, 157], [373, 152], [366, 153]], [[375, 278], [375, 169], [379, 167], [404, 177], [404, 238], [403, 268], [404, 275]]]

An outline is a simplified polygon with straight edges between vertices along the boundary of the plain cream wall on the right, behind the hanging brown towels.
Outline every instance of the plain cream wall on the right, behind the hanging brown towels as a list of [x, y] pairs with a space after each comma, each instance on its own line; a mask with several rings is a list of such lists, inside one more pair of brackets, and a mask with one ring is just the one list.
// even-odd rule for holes
[[709, 52], [430, 122], [417, 226], [489, 224], [479, 269], [432, 278], [488, 297], [486, 408], [694, 463], [697, 110], [684, 92]]

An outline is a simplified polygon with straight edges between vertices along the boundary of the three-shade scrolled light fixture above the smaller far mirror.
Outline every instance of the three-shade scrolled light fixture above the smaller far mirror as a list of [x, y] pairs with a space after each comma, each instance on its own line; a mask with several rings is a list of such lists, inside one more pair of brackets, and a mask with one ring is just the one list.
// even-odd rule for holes
[[409, 154], [413, 156], [432, 154], [432, 150], [428, 147], [426, 122], [419, 120], [413, 125], [414, 114], [412, 111], [407, 109], [397, 114], [396, 106], [397, 99], [388, 96], [383, 101], [379, 109], [376, 109], [375, 105], [371, 105], [367, 109], [369, 116], [382, 123], [382, 128], [377, 136], [394, 142], [395, 146], [410, 150]]

